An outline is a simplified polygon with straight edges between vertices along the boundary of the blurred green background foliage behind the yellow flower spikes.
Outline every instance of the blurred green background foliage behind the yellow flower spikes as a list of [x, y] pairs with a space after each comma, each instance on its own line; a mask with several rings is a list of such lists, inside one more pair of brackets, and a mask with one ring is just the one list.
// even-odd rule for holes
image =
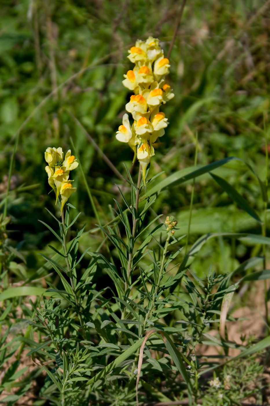
[[[179, 9], [178, 2], [165, 0], [2, 2], [0, 189], [4, 198], [11, 154], [19, 136], [8, 204], [9, 237], [24, 253], [29, 275], [42, 265], [37, 253], [46, 253], [45, 245], [51, 240], [37, 220], [53, 226], [45, 211], [45, 207], [54, 211], [54, 199], [47, 194], [45, 149], [62, 146], [66, 150], [72, 138], [101, 223], [111, 220], [108, 203], [114, 208], [113, 199], [119, 197], [115, 184], [123, 181], [96, 152], [75, 119], [124, 177], [124, 163], [132, 173], [137, 172], [138, 165], [132, 168], [132, 151], [115, 139], [129, 99], [129, 91], [121, 83], [131, 66], [127, 50], [137, 38], [153, 35], [159, 37], [166, 54]], [[187, 1], [167, 78], [175, 98], [163, 107], [170, 125], [155, 146], [148, 176], [164, 171], [162, 179], [192, 166], [197, 132], [199, 165], [234, 155], [249, 162], [262, 179], [266, 177], [268, 13], [269, 8], [259, 0]], [[217, 173], [257, 212], [262, 211], [259, 186], [244, 165], [229, 164]], [[96, 219], [79, 172], [74, 184], [77, 193], [71, 203], [82, 212], [78, 226], [86, 223], [89, 231]], [[29, 190], [20, 191], [21, 186]], [[126, 185], [122, 188], [125, 192]], [[191, 181], [162, 192], [154, 210], [164, 216], [174, 214], [184, 234], [190, 199]], [[260, 233], [260, 226], [204, 175], [195, 183], [189, 242], [209, 231]], [[101, 241], [99, 233], [86, 234], [80, 249], [91, 246], [94, 251]], [[250, 254], [242, 244], [232, 247], [231, 240], [209, 242], [194, 266], [208, 269], [211, 261], [219, 272], [225, 272], [225, 263], [226, 268], [229, 263], [233, 267], [235, 261]]]

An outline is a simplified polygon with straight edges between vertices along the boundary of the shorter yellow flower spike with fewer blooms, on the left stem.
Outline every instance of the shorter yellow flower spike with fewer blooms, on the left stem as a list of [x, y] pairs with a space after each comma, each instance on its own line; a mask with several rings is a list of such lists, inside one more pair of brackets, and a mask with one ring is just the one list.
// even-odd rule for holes
[[71, 155], [71, 150], [67, 151], [65, 158], [62, 148], [47, 148], [45, 151], [45, 161], [49, 164], [45, 167], [45, 171], [48, 174], [48, 183], [51, 188], [54, 189], [56, 194], [56, 203], [61, 196], [61, 214], [66, 201], [71, 194], [76, 191], [76, 188], [72, 187], [69, 179], [69, 171], [77, 168], [78, 162], [75, 160], [75, 156]]

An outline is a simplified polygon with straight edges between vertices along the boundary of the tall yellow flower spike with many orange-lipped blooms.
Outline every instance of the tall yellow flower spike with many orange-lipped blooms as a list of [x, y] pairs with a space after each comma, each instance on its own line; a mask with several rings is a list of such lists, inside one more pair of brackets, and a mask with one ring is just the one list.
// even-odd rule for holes
[[129, 50], [128, 58], [135, 67], [124, 75], [122, 83], [135, 93], [126, 104], [126, 111], [132, 114], [134, 122], [131, 126], [128, 114], [124, 114], [116, 138], [122, 143], [129, 143], [134, 159], [137, 155], [145, 184], [146, 167], [154, 155], [153, 143], [165, 134], [164, 128], [169, 124], [159, 108], [174, 94], [170, 85], [165, 83], [170, 65], [169, 60], [164, 58], [158, 39], [137, 40], [135, 47]]

